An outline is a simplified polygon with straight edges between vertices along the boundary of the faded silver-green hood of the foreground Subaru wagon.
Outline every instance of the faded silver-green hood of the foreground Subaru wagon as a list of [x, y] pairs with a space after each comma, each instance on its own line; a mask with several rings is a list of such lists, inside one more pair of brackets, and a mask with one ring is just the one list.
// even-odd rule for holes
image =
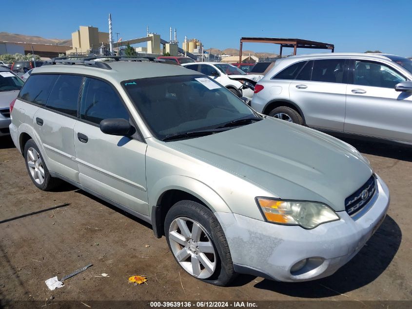
[[335, 211], [345, 210], [345, 199], [373, 173], [349, 144], [271, 117], [168, 144], [279, 198], [322, 202]]

